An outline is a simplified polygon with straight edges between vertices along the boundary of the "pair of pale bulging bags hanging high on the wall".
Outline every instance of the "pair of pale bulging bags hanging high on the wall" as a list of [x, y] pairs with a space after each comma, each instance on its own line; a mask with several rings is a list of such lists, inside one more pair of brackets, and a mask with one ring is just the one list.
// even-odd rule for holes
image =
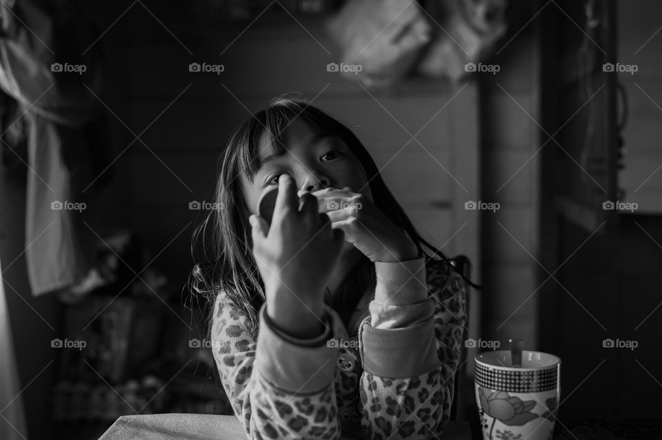
[[506, 30], [506, 0], [350, 0], [330, 19], [343, 77], [385, 88], [412, 71], [459, 81]]

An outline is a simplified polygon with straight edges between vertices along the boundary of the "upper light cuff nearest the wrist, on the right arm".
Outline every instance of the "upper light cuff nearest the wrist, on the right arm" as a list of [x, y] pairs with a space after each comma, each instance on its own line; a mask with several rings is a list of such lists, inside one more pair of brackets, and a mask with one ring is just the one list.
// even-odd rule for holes
[[375, 261], [377, 285], [374, 301], [384, 305], [405, 306], [428, 298], [425, 257], [408, 261]]

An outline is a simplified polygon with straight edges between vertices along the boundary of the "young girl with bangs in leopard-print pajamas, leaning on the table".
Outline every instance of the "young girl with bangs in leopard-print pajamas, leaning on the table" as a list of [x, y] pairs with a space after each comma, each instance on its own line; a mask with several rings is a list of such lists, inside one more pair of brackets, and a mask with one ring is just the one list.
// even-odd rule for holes
[[[257, 201], [272, 186], [268, 225]], [[441, 436], [465, 280], [359, 139], [306, 101], [272, 101], [234, 132], [216, 198], [193, 288], [213, 304], [214, 359], [248, 437]]]

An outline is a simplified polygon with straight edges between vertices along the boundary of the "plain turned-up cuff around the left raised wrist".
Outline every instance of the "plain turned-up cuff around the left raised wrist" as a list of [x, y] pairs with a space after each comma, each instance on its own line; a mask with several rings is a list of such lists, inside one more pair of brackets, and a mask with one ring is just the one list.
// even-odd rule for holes
[[[325, 307], [325, 316], [332, 319], [332, 310]], [[266, 319], [266, 303], [259, 311], [259, 332], [257, 335], [257, 350], [255, 353], [255, 366], [262, 376], [274, 386], [290, 393], [314, 393], [327, 388], [333, 381], [336, 368], [335, 359], [339, 348], [337, 346], [301, 346], [290, 341], [305, 341], [310, 343], [313, 339], [297, 339], [281, 337], [279, 330], [269, 326]], [[328, 326], [329, 327], [329, 326]], [[328, 330], [318, 339], [333, 335]]]

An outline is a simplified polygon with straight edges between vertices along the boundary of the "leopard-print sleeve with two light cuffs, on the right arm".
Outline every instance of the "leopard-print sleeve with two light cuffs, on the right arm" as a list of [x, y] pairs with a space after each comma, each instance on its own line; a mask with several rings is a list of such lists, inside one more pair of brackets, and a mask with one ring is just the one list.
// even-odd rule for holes
[[375, 263], [371, 316], [359, 328], [366, 439], [441, 437], [454, 399], [466, 288], [448, 263]]

